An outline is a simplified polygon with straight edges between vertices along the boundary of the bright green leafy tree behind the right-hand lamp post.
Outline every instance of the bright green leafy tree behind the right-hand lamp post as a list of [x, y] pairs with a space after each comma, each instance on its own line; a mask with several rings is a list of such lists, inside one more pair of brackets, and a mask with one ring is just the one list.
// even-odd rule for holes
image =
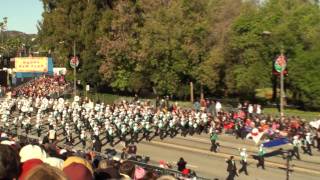
[[[318, 18], [319, 8], [303, 0], [270, 0], [263, 6], [247, 4], [230, 32], [226, 76], [229, 91], [253, 95], [257, 88], [270, 87], [272, 61], [283, 49], [289, 59], [286, 86], [294, 94], [300, 94], [295, 81], [301, 79], [291, 76], [291, 72], [301, 72], [296, 64], [308, 62], [301, 54], [309, 52], [315, 44]], [[270, 36], [264, 37], [265, 30], [271, 32]]]

